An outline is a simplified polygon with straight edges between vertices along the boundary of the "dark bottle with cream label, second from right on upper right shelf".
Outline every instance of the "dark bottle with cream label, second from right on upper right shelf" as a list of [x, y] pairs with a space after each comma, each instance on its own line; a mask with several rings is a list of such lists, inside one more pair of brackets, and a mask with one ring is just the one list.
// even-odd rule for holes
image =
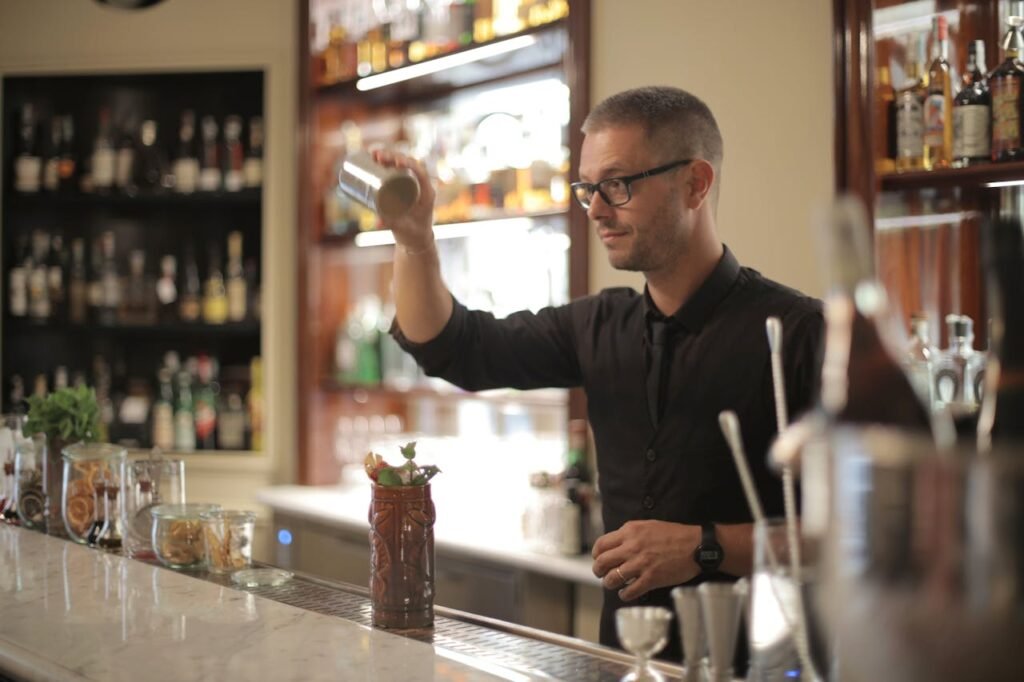
[[964, 87], [953, 99], [953, 164], [970, 166], [992, 156], [992, 95], [985, 80], [985, 41], [968, 47]]

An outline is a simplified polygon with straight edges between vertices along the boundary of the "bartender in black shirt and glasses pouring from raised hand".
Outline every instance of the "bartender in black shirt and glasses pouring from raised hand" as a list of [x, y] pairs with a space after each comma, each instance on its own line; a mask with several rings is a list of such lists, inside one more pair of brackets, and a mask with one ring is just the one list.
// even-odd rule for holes
[[[670, 606], [675, 586], [751, 572], [751, 513], [718, 415], [738, 415], [766, 512], [780, 514], [765, 461], [775, 432], [765, 319], [782, 319], [791, 415], [810, 406], [823, 319], [818, 301], [740, 267], [719, 241], [723, 145], [702, 101], [676, 88], [629, 90], [598, 104], [583, 131], [573, 196], [612, 266], [643, 272], [644, 292], [609, 289], [505, 319], [466, 309], [441, 281], [422, 166], [377, 158], [411, 168], [423, 188], [390, 224], [402, 347], [466, 389], [587, 393], [607, 530], [593, 550], [601, 642], [616, 646], [617, 607]], [[679, 659], [675, 633], [663, 655]]]

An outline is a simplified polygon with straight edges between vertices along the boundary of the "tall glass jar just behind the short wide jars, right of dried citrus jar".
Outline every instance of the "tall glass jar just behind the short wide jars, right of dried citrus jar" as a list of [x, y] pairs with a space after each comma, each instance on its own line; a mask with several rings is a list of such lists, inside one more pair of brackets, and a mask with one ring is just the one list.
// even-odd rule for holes
[[155, 458], [126, 461], [121, 474], [121, 529], [125, 556], [152, 560], [154, 507], [185, 501], [185, 463]]

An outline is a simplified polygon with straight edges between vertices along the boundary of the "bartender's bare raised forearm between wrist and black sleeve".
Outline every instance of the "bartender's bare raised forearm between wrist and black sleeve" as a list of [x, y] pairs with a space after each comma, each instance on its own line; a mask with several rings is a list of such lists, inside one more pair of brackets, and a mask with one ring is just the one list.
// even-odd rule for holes
[[395, 246], [394, 302], [398, 327], [410, 341], [430, 341], [444, 329], [452, 316], [452, 294], [432, 241], [416, 249]]

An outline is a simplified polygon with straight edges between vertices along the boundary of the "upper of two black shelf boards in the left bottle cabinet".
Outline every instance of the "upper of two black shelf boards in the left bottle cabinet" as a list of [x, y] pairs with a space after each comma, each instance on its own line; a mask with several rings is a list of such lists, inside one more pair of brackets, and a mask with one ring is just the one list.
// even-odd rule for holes
[[239, 191], [196, 191], [190, 195], [174, 193], [125, 195], [111, 193], [105, 195], [87, 195], [78, 191], [38, 191], [24, 194], [7, 190], [4, 196], [11, 208], [38, 207], [131, 207], [173, 208], [202, 206], [259, 208], [262, 189], [254, 187]]

